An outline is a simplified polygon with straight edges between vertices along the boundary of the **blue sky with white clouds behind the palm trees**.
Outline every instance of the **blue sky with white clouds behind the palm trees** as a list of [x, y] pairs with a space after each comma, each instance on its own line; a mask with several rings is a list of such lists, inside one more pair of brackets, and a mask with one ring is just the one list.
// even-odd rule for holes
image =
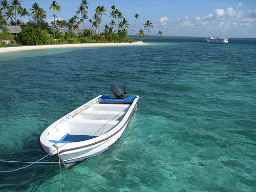
[[[22, 7], [31, 8], [37, 2], [47, 12], [47, 20], [52, 19], [49, 7], [52, 1], [24, 0]], [[57, 0], [61, 12], [60, 19], [74, 16], [80, 1]], [[255, 0], [215, 0], [215, 1], [168, 1], [168, 0], [88, 0], [88, 17], [92, 18], [97, 6], [104, 6], [110, 14], [111, 6], [115, 5], [131, 25], [134, 24], [135, 13], [140, 16], [135, 26], [135, 32], [143, 28], [143, 23], [150, 20], [154, 28], [146, 34], [157, 34], [162, 31], [168, 36], [220, 36], [225, 37], [256, 37], [256, 1]], [[103, 16], [100, 30], [110, 23], [110, 17]], [[86, 27], [89, 27], [87, 24]]]

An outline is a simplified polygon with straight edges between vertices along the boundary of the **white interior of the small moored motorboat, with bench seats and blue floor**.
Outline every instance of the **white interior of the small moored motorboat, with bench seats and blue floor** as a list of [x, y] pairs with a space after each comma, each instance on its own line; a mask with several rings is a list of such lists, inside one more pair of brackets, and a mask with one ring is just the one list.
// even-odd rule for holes
[[49, 135], [47, 139], [53, 143], [72, 143], [103, 135], [119, 124], [134, 99], [135, 96], [125, 99], [102, 96], [98, 103], [54, 126], [55, 138]]

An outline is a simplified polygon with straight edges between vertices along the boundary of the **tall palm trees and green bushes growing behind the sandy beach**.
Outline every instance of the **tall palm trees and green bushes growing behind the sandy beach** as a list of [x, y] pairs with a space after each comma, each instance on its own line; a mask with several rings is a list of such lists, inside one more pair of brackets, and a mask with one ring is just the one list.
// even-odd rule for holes
[[[144, 36], [144, 31], [153, 27], [153, 24], [147, 20], [143, 25], [144, 29], [140, 29], [136, 35], [127, 36], [127, 28], [130, 27], [129, 22], [123, 17], [122, 13], [111, 6], [110, 24], [105, 25], [102, 29], [102, 17], [108, 16], [104, 6], [97, 6], [92, 18], [88, 18], [88, 2], [82, 0], [78, 5], [76, 14], [68, 20], [56, 20], [56, 12], [60, 13], [60, 5], [53, 1], [49, 10], [53, 11], [53, 22], [46, 22], [46, 11], [40, 8], [38, 3], [31, 5], [26, 9], [21, 6], [22, 1], [19, 0], [2, 0], [0, 2], [0, 25], [15, 25], [15, 36], [7, 36], [6, 32], [0, 33], [0, 40], [8, 38], [11, 40], [10, 46], [17, 45], [55, 45], [55, 44], [78, 44], [91, 42], [134, 42], [136, 35]], [[4, 14], [2, 13], [4, 12]], [[19, 19], [17, 19], [19, 16]], [[24, 19], [22, 19], [24, 17]], [[26, 18], [30, 17], [29, 21]], [[132, 25], [132, 33], [139, 14], [135, 14], [135, 22]], [[89, 29], [84, 29], [84, 23], [90, 24]], [[17, 33], [17, 26], [22, 28], [22, 32]], [[66, 29], [63, 30], [60, 29]], [[81, 29], [82, 28], [82, 29]], [[76, 29], [79, 29], [77, 32]], [[74, 31], [76, 30], [76, 31]], [[10, 34], [9, 34], [10, 35]], [[8, 46], [8, 45], [6, 45]], [[3, 46], [1, 46], [3, 47]]]

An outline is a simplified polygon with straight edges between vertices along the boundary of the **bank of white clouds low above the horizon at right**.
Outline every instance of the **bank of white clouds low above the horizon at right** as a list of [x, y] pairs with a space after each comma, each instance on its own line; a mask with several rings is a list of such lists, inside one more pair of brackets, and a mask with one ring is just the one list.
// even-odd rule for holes
[[[215, 31], [225, 33], [225, 31], [253, 31], [256, 28], [256, 9], [249, 10], [243, 15], [243, 10], [239, 10], [241, 3], [237, 8], [229, 7], [227, 9], [216, 9], [205, 16], [196, 16], [190, 18], [185, 14], [183, 18], [170, 20], [166, 16], [161, 17], [154, 24], [154, 30], [166, 31], [166, 33], [185, 33], [189, 35], [200, 34], [201, 31], [207, 31], [207, 35]], [[244, 27], [249, 27], [244, 29]], [[237, 32], [238, 33], [238, 32]], [[253, 32], [250, 32], [253, 33]], [[180, 34], [179, 34], [180, 35]]]

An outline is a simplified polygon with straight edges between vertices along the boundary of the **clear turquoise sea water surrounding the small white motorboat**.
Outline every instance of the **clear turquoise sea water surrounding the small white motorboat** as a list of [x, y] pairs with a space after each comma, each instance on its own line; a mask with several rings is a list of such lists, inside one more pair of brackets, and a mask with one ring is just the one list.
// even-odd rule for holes
[[[255, 53], [256, 44], [176, 41], [0, 54], [0, 159], [44, 157], [46, 127], [115, 83], [140, 95], [138, 108], [109, 151], [61, 165], [61, 191], [255, 191]], [[58, 172], [0, 174], [0, 190], [58, 191]]]

